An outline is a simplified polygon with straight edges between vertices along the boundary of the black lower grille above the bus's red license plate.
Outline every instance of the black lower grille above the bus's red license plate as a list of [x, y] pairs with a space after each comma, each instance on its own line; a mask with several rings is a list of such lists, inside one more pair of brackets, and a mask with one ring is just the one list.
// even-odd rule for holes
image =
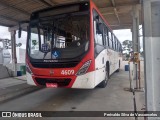
[[46, 86], [46, 83], [56, 83], [58, 87], [65, 87], [68, 86], [71, 82], [71, 79], [64, 78], [64, 79], [54, 79], [54, 78], [35, 78], [36, 82], [39, 85]]

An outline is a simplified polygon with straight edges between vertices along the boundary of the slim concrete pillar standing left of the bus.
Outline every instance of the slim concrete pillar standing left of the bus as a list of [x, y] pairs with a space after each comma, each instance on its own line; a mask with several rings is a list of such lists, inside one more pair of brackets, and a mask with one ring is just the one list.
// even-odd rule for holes
[[12, 65], [13, 65], [13, 76], [17, 76], [17, 56], [16, 56], [16, 30], [12, 30], [11, 32], [11, 51], [12, 51]]

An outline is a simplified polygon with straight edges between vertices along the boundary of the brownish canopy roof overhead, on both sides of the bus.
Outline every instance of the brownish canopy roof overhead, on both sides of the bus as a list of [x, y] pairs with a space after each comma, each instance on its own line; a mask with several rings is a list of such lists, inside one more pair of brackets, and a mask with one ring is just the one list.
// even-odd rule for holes
[[[21, 21], [28, 21], [34, 11], [57, 4], [80, 0], [0, 0], [0, 25], [13, 27]], [[82, 0], [81, 0], [82, 1]], [[112, 29], [132, 27], [132, 5], [140, 0], [93, 0]], [[141, 22], [141, 21], [140, 21]]]

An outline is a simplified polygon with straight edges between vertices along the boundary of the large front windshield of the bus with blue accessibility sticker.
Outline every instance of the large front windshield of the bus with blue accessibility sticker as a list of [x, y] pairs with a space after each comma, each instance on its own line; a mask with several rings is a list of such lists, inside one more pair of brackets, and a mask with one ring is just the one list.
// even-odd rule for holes
[[89, 12], [42, 17], [30, 22], [28, 51], [32, 59], [71, 59], [89, 48]]

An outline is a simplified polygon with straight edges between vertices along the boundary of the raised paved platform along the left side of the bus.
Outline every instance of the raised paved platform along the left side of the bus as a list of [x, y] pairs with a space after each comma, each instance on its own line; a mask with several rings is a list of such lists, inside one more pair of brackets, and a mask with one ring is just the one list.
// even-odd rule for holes
[[26, 82], [26, 76], [0, 79], [0, 103], [41, 89]]

